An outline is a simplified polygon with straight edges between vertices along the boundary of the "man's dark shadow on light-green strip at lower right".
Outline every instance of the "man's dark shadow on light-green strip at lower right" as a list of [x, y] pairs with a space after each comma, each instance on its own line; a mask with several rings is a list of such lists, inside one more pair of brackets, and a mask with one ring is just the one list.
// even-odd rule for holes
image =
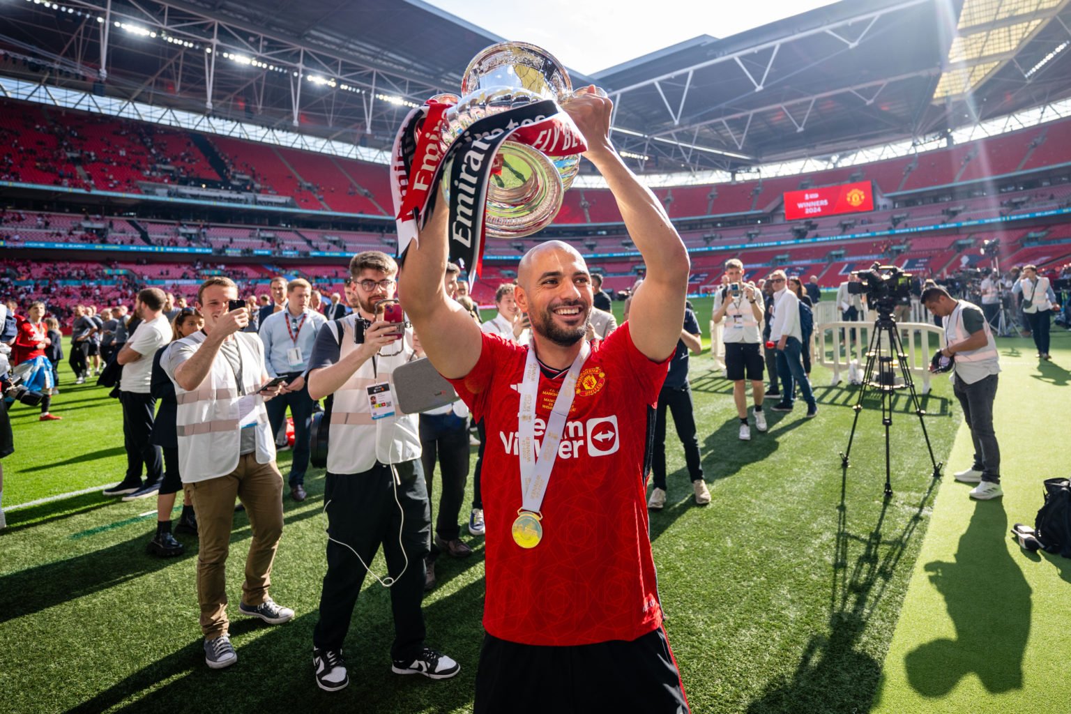
[[1004, 504], [979, 502], [960, 537], [955, 562], [926, 563], [955, 639], [935, 639], [907, 653], [907, 681], [922, 696], [947, 695], [969, 674], [977, 674], [991, 694], [1023, 687], [1032, 591], [1008, 552], [1007, 532]]

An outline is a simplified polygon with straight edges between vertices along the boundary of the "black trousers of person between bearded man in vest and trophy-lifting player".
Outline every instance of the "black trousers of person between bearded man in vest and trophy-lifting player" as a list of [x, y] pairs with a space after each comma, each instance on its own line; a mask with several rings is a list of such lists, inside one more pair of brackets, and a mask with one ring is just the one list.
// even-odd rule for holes
[[[450, 414], [420, 415], [421, 464], [424, 481], [427, 483], [428, 505], [434, 514], [435, 498], [432, 484], [435, 481], [435, 461], [438, 459], [441, 474], [439, 515], [435, 518], [435, 532], [443, 541], [455, 541], [461, 536], [457, 516], [465, 500], [465, 482], [468, 481], [468, 420]], [[432, 553], [438, 548], [432, 544]]]

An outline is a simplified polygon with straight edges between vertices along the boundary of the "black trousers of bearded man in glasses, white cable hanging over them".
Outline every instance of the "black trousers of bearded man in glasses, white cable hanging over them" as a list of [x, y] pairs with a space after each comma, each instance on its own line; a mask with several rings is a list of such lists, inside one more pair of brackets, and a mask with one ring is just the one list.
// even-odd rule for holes
[[[380, 544], [388, 572], [377, 575], [384, 580], [388, 575], [397, 578], [391, 586], [391, 658], [416, 657], [424, 647], [424, 614], [420, 607], [424, 597], [424, 557], [432, 532], [427, 489], [419, 459], [394, 468], [401, 484], [395, 483], [389, 466], [378, 462], [362, 473], [327, 473], [323, 511], [330, 538], [328, 572], [320, 593], [320, 619], [313, 631], [315, 647], [342, 649], [364, 582], [366, 571], [361, 561], [371, 565]], [[395, 489], [401, 511], [394, 502]]]

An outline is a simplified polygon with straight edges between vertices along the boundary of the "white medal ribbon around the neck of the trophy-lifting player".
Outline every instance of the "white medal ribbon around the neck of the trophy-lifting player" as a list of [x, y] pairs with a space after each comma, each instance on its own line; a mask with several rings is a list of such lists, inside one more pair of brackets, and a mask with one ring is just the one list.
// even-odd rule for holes
[[580, 353], [569, 368], [558, 397], [554, 400], [554, 409], [543, 432], [543, 443], [540, 444], [539, 457], [536, 456], [536, 399], [539, 396], [539, 361], [536, 350], [528, 348], [525, 361], [525, 376], [521, 383], [521, 410], [517, 413], [517, 431], [521, 438], [521, 495], [522, 508], [530, 513], [539, 513], [546, 495], [546, 486], [550, 481], [550, 470], [558, 458], [558, 444], [565, 426], [565, 417], [573, 406], [576, 396], [576, 379], [580, 368], [591, 352], [587, 340], [580, 346]]

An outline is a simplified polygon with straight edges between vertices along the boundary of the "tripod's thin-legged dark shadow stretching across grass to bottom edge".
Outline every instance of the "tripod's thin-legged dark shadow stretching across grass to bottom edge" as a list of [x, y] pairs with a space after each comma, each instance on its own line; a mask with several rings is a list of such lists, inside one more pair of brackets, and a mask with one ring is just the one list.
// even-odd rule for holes
[[[862, 636], [922, 521], [923, 511], [932, 504], [938, 483], [930, 482], [899, 534], [883, 533], [886, 514], [893, 504], [890, 499], [883, 502], [874, 528], [856, 534], [848, 531], [847, 472], [842, 473], [828, 632], [812, 636], [793, 677], [770, 682], [767, 692], [749, 704], [748, 714], [870, 710], [880, 681], [881, 664], [862, 650]], [[862, 550], [849, 563], [848, 550], [853, 544], [861, 545]]]

